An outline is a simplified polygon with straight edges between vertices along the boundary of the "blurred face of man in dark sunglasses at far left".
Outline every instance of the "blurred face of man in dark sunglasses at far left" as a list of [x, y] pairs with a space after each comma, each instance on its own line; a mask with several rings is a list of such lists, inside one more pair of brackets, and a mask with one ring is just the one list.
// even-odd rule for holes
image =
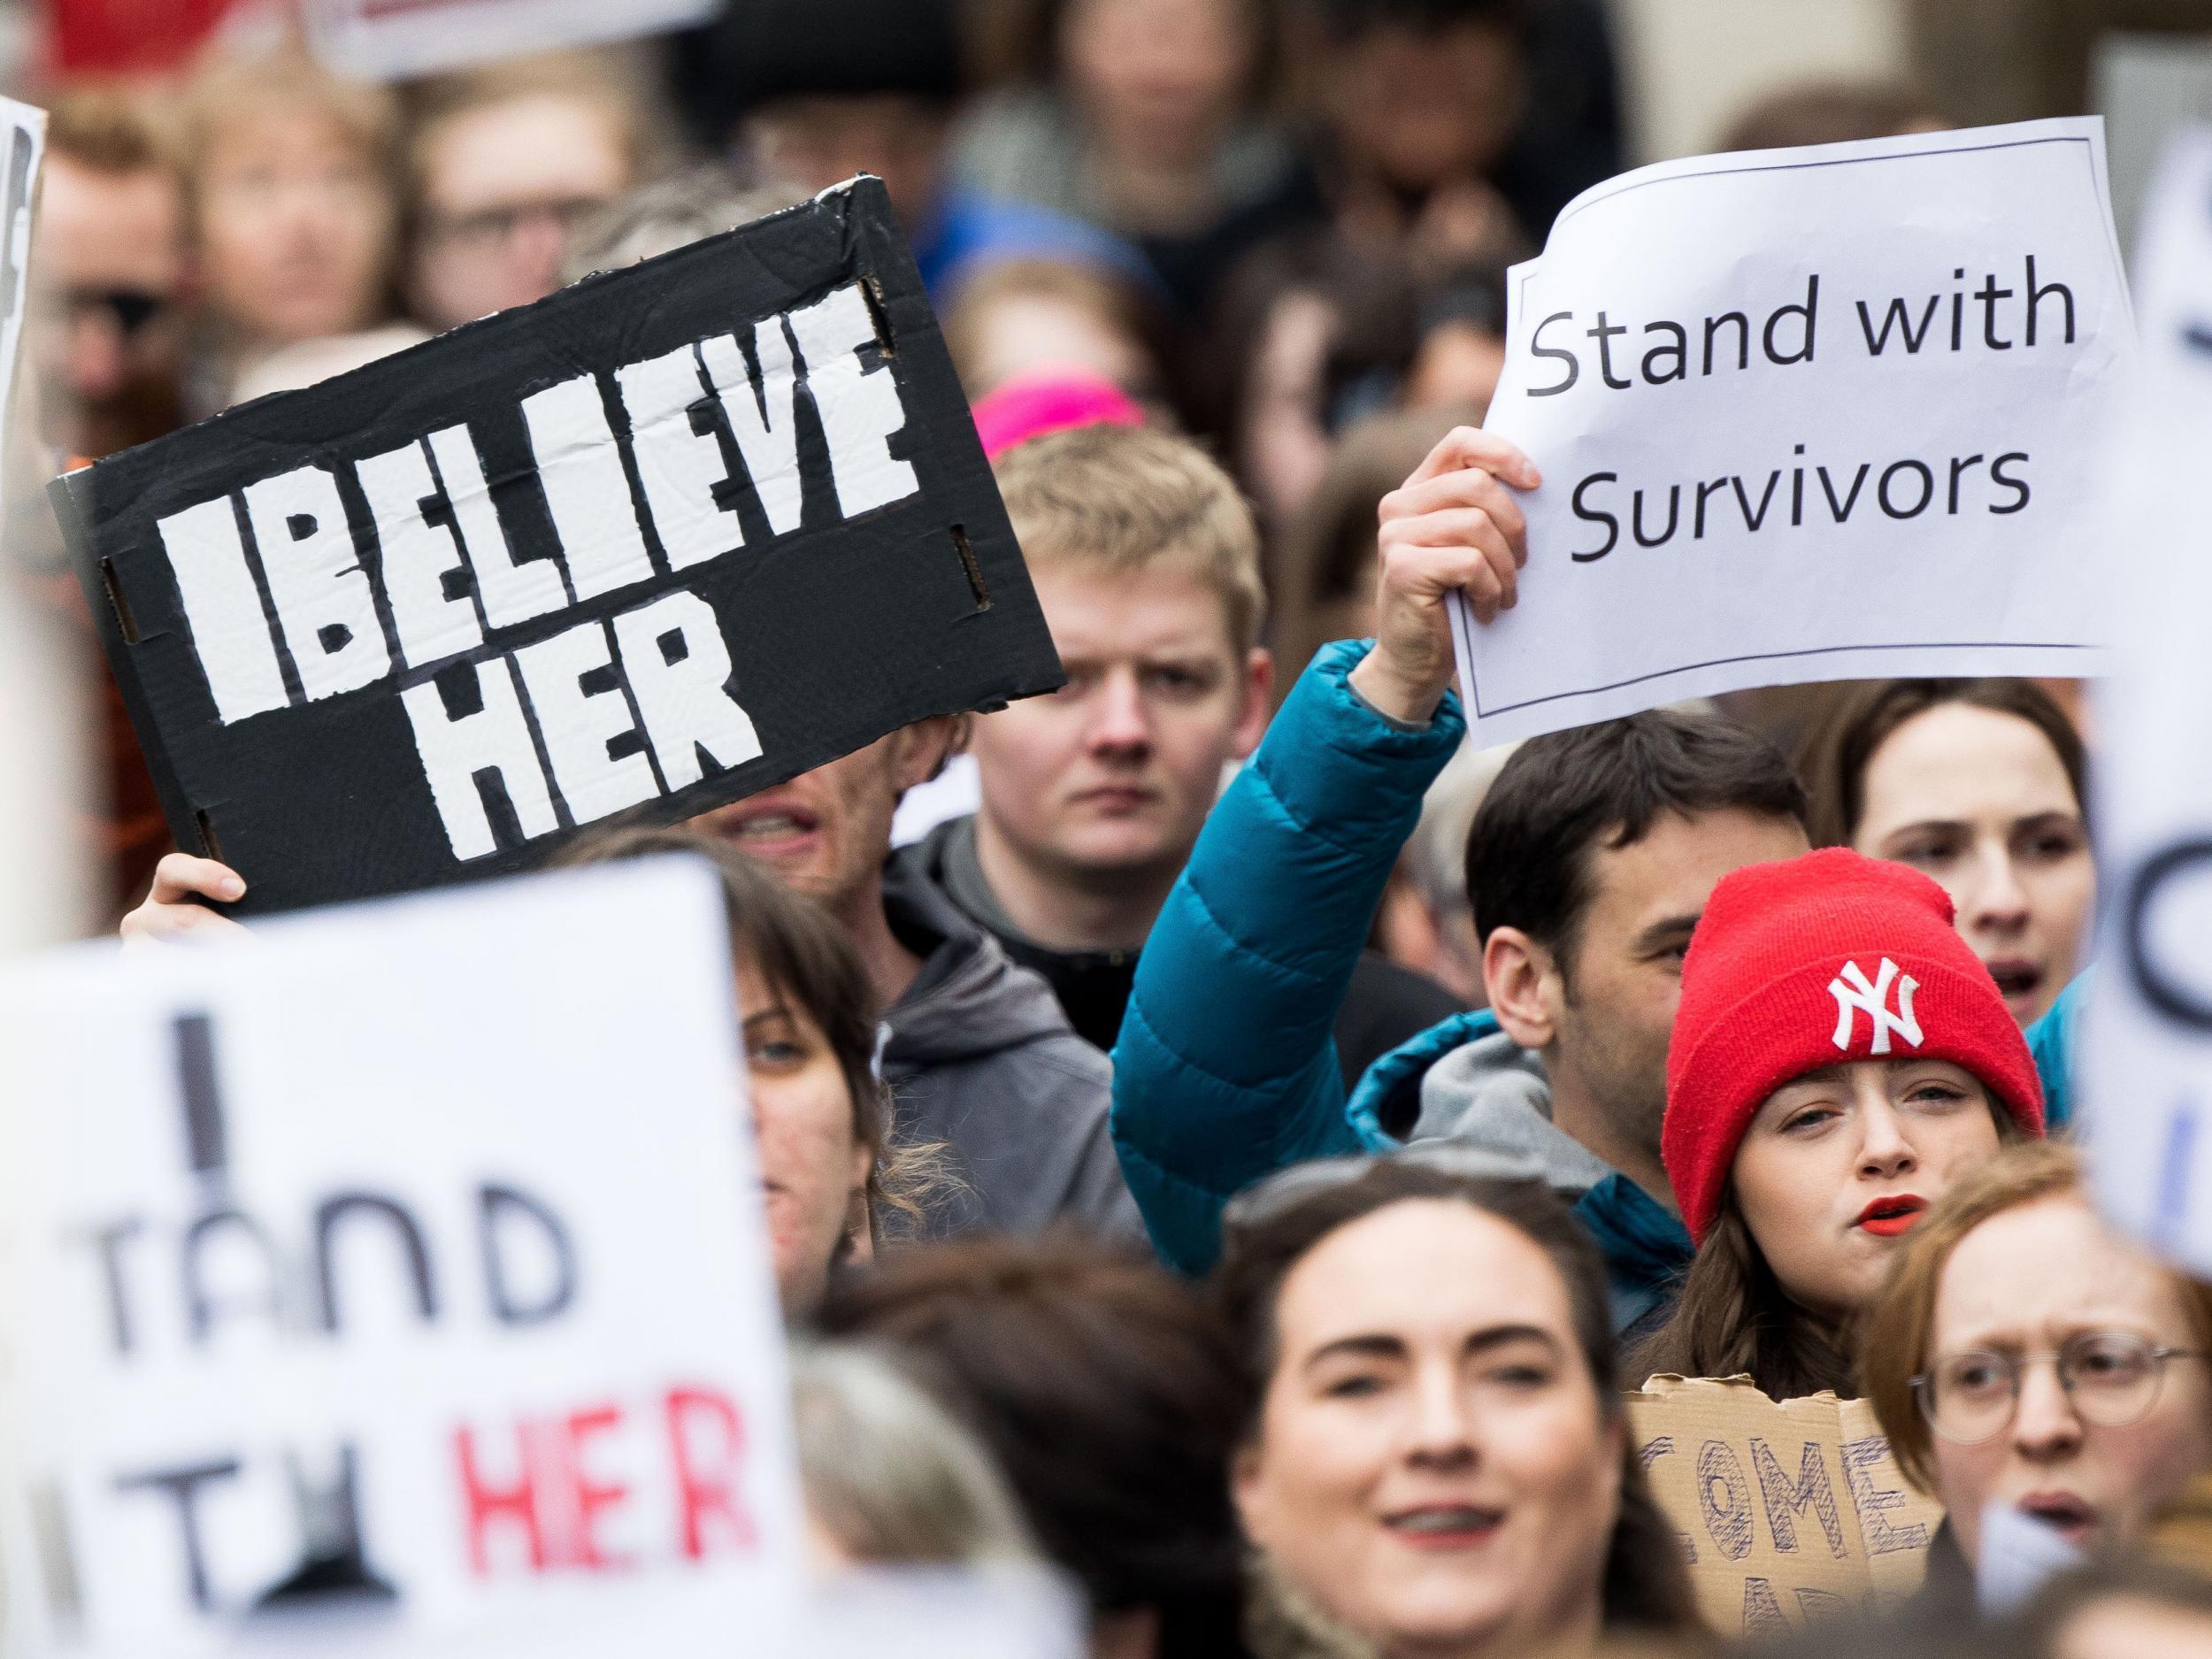
[[51, 434], [80, 453], [155, 436], [175, 405], [184, 195], [159, 168], [46, 159], [31, 332]]

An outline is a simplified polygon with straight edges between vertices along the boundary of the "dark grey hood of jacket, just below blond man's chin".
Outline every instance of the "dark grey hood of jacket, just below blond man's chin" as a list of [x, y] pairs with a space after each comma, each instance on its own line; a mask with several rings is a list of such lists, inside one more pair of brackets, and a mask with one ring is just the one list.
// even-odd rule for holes
[[914, 984], [883, 1013], [883, 1066], [945, 1066], [1068, 1035], [1053, 989], [1018, 967], [929, 880], [920, 847], [900, 847], [883, 869], [883, 914], [898, 942], [922, 958]]

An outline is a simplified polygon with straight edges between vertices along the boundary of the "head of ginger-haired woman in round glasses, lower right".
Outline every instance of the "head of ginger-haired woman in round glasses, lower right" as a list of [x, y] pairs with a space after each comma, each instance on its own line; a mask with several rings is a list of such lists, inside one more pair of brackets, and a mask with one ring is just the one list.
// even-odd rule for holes
[[1860, 1340], [1898, 1467], [1949, 1513], [1931, 1573], [1980, 1559], [1991, 1504], [2130, 1544], [2212, 1471], [2208, 1352], [2212, 1287], [2106, 1230], [2073, 1152], [2017, 1146], [1953, 1190]]

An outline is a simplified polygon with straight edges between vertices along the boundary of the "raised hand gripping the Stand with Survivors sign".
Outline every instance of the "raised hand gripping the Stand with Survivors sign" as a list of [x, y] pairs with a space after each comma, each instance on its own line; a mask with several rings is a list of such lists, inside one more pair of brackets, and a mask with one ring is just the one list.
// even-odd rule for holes
[[1451, 684], [1447, 599], [1467, 595], [1482, 622], [1513, 608], [1528, 522], [1506, 484], [1540, 482], [1504, 438], [1455, 427], [1383, 498], [1376, 648], [1352, 670], [1360, 697], [1416, 726], [1436, 712]]

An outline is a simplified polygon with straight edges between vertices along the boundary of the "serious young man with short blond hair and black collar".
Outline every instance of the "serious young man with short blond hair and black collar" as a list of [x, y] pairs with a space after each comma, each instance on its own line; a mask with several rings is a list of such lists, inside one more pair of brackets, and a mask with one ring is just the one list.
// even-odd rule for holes
[[[975, 721], [980, 810], [898, 858], [1110, 1048], [1223, 768], [1267, 728], [1259, 531], [1221, 467], [1146, 427], [1031, 438], [1000, 456], [998, 487], [1068, 684]], [[1336, 1022], [1347, 1075], [1455, 1011], [1365, 958]]]

